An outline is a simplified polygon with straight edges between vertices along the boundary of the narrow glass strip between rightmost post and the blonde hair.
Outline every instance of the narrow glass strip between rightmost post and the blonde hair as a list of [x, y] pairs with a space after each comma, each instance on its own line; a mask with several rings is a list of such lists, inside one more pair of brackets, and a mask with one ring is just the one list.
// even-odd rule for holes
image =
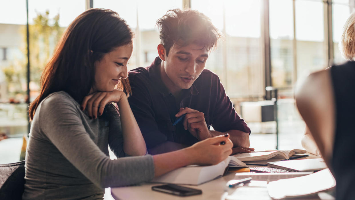
[[340, 37], [343, 34], [343, 26], [350, 15], [349, 6], [333, 4], [333, 44], [334, 44], [334, 63], [343, 63], [345, 59], [339, 50]]

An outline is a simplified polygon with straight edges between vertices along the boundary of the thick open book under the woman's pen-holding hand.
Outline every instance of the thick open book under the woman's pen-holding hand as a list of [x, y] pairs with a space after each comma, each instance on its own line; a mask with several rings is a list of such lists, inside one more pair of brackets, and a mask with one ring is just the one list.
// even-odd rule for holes
[[154, 178], [152, 182], [199, 185], [223, 176], [228, 170], [228, 166], [247, 167], [245, 163], [237, 158], [228, 156], [226, 160], [211, 166], [190, 165], [175, 169]]

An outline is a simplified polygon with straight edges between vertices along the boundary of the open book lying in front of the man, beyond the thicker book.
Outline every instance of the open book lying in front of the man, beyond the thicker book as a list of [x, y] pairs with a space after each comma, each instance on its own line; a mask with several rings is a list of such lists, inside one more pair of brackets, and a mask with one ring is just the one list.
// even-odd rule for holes
[[306, 150], [294, 149], [288, 151], [263, 151], [263, 152], [251, 152], [251, 153], [239, 153], [233, 155], [242, 162], [246, 161], [265, 161], [270, 158], [282, 158], [290, 159], [293, 155], [304, 153], [306, 155]]

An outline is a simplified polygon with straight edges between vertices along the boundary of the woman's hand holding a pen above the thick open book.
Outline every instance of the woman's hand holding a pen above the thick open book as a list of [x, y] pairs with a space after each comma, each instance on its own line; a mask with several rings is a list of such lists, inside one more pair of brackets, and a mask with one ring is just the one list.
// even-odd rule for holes
[[232, 153], [233, 143], [229, 134], [210, 137], [187, 147], [191, 156], [195, 158], [194, 164], [209, 165], [218, 164]]

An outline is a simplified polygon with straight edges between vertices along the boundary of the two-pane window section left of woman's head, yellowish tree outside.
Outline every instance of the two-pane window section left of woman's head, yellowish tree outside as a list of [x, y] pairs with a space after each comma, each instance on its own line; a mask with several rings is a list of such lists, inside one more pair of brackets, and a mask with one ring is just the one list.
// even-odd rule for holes
[[38, 96], [43, 67], [65, 27], [83, 11], [83, 0], [28, 0], [31, 70], [27, 79], [26, 1], [1, 2], [0, 133], [10, 137], [28, 133], [28, 102]]

